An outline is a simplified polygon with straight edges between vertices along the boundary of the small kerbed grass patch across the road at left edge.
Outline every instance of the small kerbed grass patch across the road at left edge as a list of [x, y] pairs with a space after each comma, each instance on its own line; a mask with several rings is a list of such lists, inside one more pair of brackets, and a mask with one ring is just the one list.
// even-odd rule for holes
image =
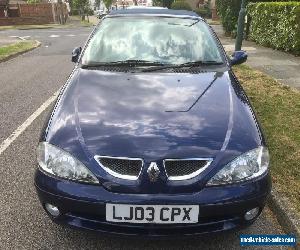
[[40, 45], [37, 41], [21, 41], [0, 47], [0, 62], [25, 53]]

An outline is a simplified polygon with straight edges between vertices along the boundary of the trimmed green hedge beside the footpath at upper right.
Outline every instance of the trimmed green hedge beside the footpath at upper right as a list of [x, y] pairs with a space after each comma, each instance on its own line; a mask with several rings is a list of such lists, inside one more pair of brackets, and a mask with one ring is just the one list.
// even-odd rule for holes
[[300, 55], [300, 2], [253, 3], [247, 12], [251, 40]]

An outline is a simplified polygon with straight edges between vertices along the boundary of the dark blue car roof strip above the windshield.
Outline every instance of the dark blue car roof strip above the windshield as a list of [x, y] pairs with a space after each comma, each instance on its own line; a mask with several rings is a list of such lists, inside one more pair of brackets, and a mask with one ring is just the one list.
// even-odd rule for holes
[[153, 16], [185, 16], [191, 18], [201, 18], [197, 13], [187, 10], [171, 10], [167, 8], [132, 8], [132, 9], [121, 9], [113, 10], [107, 16], [118, 16], [118, 15], [153, 15]]

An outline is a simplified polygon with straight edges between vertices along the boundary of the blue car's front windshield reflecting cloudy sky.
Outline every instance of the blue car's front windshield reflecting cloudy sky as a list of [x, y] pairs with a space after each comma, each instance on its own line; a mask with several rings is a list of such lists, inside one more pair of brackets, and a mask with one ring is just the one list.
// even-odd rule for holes
[[89, 42], [82, 63], [129, 60], [163, 64], [223, 62], [215, 38], [200, 19], [105, 18]]

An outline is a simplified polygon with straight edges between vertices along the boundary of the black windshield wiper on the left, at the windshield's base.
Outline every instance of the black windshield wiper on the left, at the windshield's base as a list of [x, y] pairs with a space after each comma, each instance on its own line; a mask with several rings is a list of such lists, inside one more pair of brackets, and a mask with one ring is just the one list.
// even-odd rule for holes
[[93, 67], [101, 67], [101, 66], [128, 66], [128, 67], [136, 67], [136, 66], [163, 66], [162, 62], [152, 62], [147, 60], [123, 60], [123, 61], [114, 61], [114, 62], [99, 62], [99, 63], [89, 63], [82, 64], [81, 67], [84, 68], [93, 68]]

